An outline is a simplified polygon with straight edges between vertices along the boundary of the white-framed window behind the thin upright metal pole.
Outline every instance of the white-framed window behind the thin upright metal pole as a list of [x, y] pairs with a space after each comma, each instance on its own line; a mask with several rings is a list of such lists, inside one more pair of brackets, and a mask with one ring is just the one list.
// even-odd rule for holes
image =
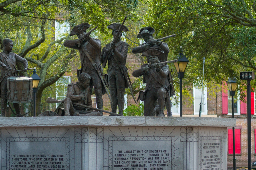
[[[202, 88], [193, 88], [194, 95], [194, 115], [199, 115], [200, 103], [202, 101], [202, 115], [207, 115], [207, 88], [204, 87], [203, 96]], [[202, 97], [202, 99], [201, 99]]]

